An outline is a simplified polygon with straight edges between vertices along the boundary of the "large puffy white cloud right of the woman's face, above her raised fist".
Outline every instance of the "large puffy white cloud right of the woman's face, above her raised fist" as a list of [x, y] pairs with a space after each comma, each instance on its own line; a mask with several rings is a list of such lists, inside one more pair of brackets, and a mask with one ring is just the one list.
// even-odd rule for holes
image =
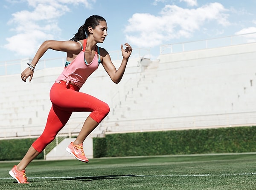
[[227, 9], [220, 3], [209, 3], [197, 9], [166, 5], [159, 16], [134, 14], [125, 27], [127, 40], [139, 47], [157, 46], [180, 37], [191, 37], [205, 23], [215, 21], [230, 25]]

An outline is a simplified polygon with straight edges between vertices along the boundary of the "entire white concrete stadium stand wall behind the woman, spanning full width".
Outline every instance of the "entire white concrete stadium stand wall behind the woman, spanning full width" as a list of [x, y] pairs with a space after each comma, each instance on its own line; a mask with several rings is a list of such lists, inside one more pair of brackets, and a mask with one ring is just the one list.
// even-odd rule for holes
[[[145, 70], [137, 67], [140, 58], [129, 60], [117, 85], [102, 66], [93, 73], [81, 92], [111, 107], [93, 135], [256, 124], [256, 43], [158, 59]], [[21, 81], [20, 74], [0, 76], [0, 137], [41, 134], [51, 106], [49, 90], [61, 71], [38, 70], [32, 83]], [[79, 132], [88, 114], [73, 113], [61, 132]]]

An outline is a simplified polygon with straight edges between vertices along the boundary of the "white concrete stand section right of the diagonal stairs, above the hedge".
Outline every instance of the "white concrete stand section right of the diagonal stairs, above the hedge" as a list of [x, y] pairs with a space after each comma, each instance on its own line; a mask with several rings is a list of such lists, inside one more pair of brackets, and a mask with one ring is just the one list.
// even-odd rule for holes
[[159, 60], [105, 121], [109, 132], [256, 124], [256, 43]]

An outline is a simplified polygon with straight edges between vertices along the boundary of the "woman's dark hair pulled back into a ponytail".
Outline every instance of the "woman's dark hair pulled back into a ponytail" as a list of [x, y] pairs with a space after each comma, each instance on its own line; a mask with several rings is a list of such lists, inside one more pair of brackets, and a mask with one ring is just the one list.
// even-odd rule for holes
[[90, 35], [90, 32], [88, 31], [88, 27], [92, 27], [95, 29], [96, 26], [99, 25], [99, 22], [101, 21], [106, 21], [105, 18], [99, 16], [99, 15], [92, 15], [89, 18], [85, 20], [84, 25], [80, 26], [78, 29], [78, 32], [75, 34], [73, 38], [70, 40], [72, 41], [79, 41], [79, 40], [84, 40], [87, 38], [87, 36]]

